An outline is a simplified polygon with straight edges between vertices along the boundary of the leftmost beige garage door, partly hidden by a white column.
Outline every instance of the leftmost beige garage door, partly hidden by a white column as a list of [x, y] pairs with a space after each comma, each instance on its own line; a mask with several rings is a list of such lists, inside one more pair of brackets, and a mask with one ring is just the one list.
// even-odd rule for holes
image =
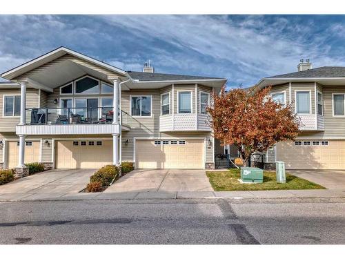
[[[24, 163], [39, 162], [39, 141], [27, 141], [25, 146], [25, 157]], [[8, 160], [7, 166], [12, 169], [18, 166], [19, 161], [19, 142], [9, 141], [8, 142]]]

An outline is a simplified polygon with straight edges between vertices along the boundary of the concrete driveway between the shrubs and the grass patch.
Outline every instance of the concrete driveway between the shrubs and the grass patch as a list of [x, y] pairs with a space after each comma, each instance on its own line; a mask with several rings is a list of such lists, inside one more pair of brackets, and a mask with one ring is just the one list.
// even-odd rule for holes
[[213, 191], [205, 170], [137, 169], [117, 180], [105, 193], [132, 191]]

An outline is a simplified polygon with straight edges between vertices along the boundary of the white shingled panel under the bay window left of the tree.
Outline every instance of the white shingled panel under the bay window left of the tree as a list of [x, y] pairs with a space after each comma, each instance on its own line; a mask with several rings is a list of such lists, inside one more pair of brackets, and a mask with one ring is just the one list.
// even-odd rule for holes
[[174, 114], [159, 117], [159, 131], [210, 131], [208, 115]]

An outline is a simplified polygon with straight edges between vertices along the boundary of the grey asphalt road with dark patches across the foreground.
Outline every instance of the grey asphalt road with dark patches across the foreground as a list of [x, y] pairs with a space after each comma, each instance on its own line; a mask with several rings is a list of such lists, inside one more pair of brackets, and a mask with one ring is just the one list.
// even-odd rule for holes
[[345, 199], [1, 202], [1, 244], [345, 244]]

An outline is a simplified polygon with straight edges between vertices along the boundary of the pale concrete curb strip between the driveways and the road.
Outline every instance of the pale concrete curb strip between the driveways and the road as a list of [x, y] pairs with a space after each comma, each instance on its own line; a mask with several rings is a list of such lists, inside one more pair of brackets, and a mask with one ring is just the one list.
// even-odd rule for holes
[[284, 191], [170, 191], [125, 193], [0, 193], [0, 202], [63, 200], [176, 200], [176, 199], [279, 199], [279, 198], [345, 198], [339, 190]]

